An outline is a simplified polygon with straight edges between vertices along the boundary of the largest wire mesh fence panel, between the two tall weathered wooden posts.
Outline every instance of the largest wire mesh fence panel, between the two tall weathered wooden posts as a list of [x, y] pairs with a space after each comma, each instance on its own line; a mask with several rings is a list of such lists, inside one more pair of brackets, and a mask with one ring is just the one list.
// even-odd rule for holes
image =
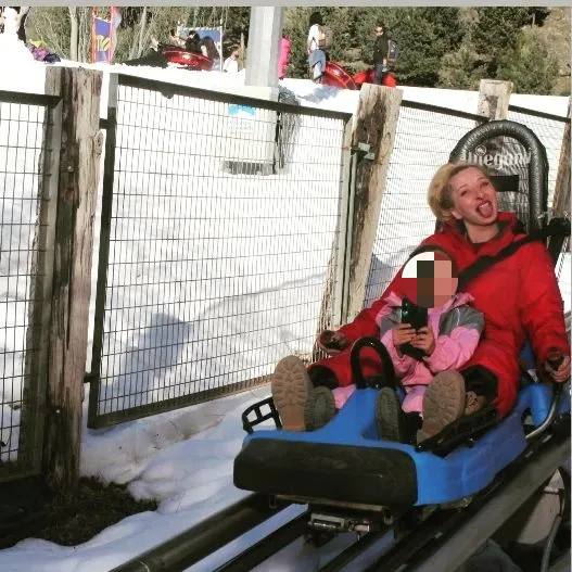
[[312, 355], [348, 116], [192, 93], [119, 78], [91, 427], [245, 389], [281, 357]]

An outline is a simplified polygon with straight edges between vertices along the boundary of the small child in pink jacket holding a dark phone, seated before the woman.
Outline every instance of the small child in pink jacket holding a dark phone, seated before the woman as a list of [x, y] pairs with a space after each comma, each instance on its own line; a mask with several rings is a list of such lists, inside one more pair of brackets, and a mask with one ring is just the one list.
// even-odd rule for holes
[[[427, 327], [416, 331], [411, 325], [402, 323], [404, 298], [396, 292], [390, 292], [376, 316], [380, 340], [406, 392], [401, 404], [393, 389], [380, 390], [376, 417], [382, 438], [404, 441], [408, 438], [407, 434], [419, 429], [419, 442], [427, 438], [434, 429], [432, 425], [437, 423], [436, 418], [433, 420], [433, 414], [446, 409], [450, 417], [448, 422], [452, 422], [462, 414], [471, 415], [482, 406], [479, 402], [483, 399], [482, 396], [472, 391], [465, 393], [465, 381], [458, 370], [476, 349], [484, 329], [484, 316], [471, 306], [473, 297], [470, 294], [455, 293], [457, 276], [455, 264], [448, 255], [430, 247], [425, 254], [420, 253], [411, 258], [403, 275], [410, 279], [405, 280], [404, 288], [410, 285], [416, 291], [412, 297], [428, 308]], [[421, 354], [412, 357], [402, 351], [407, 343]], [[437, 380], [440, 385], [445, 386], [442, 395], [446, 395], [446, 403], [433, 404], [432, 398], [425, 399], [428, 386]], [[314, 387], [305, 407], [308, 429], [319, 429], [327, 423], [355, 390], [355, 384], [339, 386], [333, 391], [325, 385]], [[461, 406], [462, 410], [459, 410]]]

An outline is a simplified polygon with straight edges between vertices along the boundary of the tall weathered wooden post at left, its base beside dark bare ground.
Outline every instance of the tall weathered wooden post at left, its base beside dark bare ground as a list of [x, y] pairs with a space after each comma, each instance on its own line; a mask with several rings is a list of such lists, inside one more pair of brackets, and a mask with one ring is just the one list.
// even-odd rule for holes
[[43, 471], [52, 488], [79, 478], [81, 402], [88, 340], [93, 219], [102, 134], [101, 73], [47, 69], [46, 89], [62, 97]]

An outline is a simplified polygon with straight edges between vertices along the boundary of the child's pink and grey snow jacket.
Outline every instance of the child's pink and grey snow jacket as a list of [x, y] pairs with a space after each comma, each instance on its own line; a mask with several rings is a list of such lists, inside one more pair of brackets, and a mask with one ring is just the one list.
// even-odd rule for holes
[[417, 360], [399, 355], [393, 344], [392, 330], [402, 321], [402, 298], [391, 292], [386, 305], [376, 316], [381, 342], [387, 348], [395, 373], [402, 379], [407, 396], [404, 411], [421, 411], [427, 385], [440, 372], [462, 367], [476, 349], [484, 329], [484, 316], [469, 306], [471, 294], [455, 294], [444, 306], [430, 308], [428, 326], [435, 336], [435, 349], [430, 356]]

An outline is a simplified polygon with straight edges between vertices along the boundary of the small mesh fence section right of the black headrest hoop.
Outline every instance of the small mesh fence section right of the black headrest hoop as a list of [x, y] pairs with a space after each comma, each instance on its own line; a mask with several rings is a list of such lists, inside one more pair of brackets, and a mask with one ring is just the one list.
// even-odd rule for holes
[[509, 106], [507, 119], [521, 123], [531, 129], [541, 143], [546, 148], [548, 158], [548, 208], [552, 205], [558, 164], [560, 162], [560, 149], [567, 117], [559, 117], [546, 113], [535, 112], [523, 107]]

